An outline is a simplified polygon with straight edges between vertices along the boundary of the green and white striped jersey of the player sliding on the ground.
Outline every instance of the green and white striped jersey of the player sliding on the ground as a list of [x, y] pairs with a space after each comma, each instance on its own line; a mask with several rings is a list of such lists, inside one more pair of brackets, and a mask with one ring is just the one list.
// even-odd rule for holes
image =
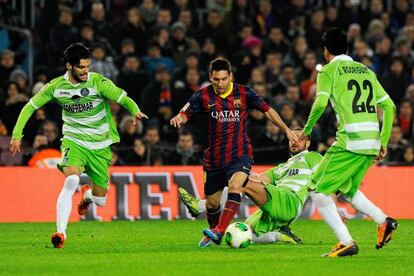
[[296, 193], [302, 204], [308, 197], [308, 182], [322, 160], [318, 152], [302, 151], [266, 172], [272, 185]]

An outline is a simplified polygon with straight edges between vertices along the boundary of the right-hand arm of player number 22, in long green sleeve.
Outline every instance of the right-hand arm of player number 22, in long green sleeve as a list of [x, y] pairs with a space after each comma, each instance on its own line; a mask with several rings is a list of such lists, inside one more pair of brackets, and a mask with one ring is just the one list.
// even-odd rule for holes
[[396, 107], [378, 80], [376, 81], [376, 92], [377, 105], [384, 111], [382, 115], [381, 150], [379, 156], [377, 157], [377, 160], [381, 160], [387, 155], [387, 144], [391, 136]]

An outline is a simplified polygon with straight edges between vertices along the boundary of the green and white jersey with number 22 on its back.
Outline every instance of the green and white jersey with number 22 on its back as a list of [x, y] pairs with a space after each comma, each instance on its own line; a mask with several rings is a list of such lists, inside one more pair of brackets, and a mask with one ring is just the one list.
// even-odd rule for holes
[[[318, 74], [319, 97], [328, 97], [336, 113], [338, 130], [333, 146], [358, 154], [377, 155], [381, 145], [387, 144], [389, 135], [387, 138], [385, 134], [381, 141], [377, 105], [392, 101], [375, 73], [365, 65], [347, 55], [336, 56]], [[320, 116], [314, 116], [315, 113], [309, 116], [305, 134], [310, 133]]]

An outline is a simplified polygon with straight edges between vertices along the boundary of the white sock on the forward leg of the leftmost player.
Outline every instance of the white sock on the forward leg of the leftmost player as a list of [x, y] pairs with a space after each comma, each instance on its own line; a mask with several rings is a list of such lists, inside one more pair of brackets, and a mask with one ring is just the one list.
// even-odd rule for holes
[[72, 211], [72, 196], [78, 188], [79, 180], [79, 176], [77, 175], [69, 175], [66, 177], [56, 203], [56, 227], [58, 232], [64, 234], [65, 239], [66, 227], [68, 225], [70, 212]]

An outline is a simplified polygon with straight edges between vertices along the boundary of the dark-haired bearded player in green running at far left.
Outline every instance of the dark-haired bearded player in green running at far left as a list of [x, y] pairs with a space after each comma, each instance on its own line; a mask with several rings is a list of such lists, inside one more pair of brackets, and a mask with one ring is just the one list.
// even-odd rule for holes
[[57, 199], [57, 231], [51, 241], [63, 248], [66, 227], [72, 209], [72, 196], [79, 185], [79, 176], [86, 172], [92, 181], [82, 187], [78, 212], [85, 215], [92, 202], [104, 206], [109, 185], [111, 162], [109, 146], [119, 142], [119, 135], [109, 107], [109, 100], [123, 105], [136, 120], [148, 118], [126, 92], [100, 74], [89, 72], [90, 52], [81, 43], [70, 45], [63, 58], [67, 72], [51, 80], [30, 99], [17, 119], [10, 141], [12, 154], [20, 151], [22, 132], [33, 112], [51, 100], [62, 107], [62, 161], [58, 168], [65, 175]]

